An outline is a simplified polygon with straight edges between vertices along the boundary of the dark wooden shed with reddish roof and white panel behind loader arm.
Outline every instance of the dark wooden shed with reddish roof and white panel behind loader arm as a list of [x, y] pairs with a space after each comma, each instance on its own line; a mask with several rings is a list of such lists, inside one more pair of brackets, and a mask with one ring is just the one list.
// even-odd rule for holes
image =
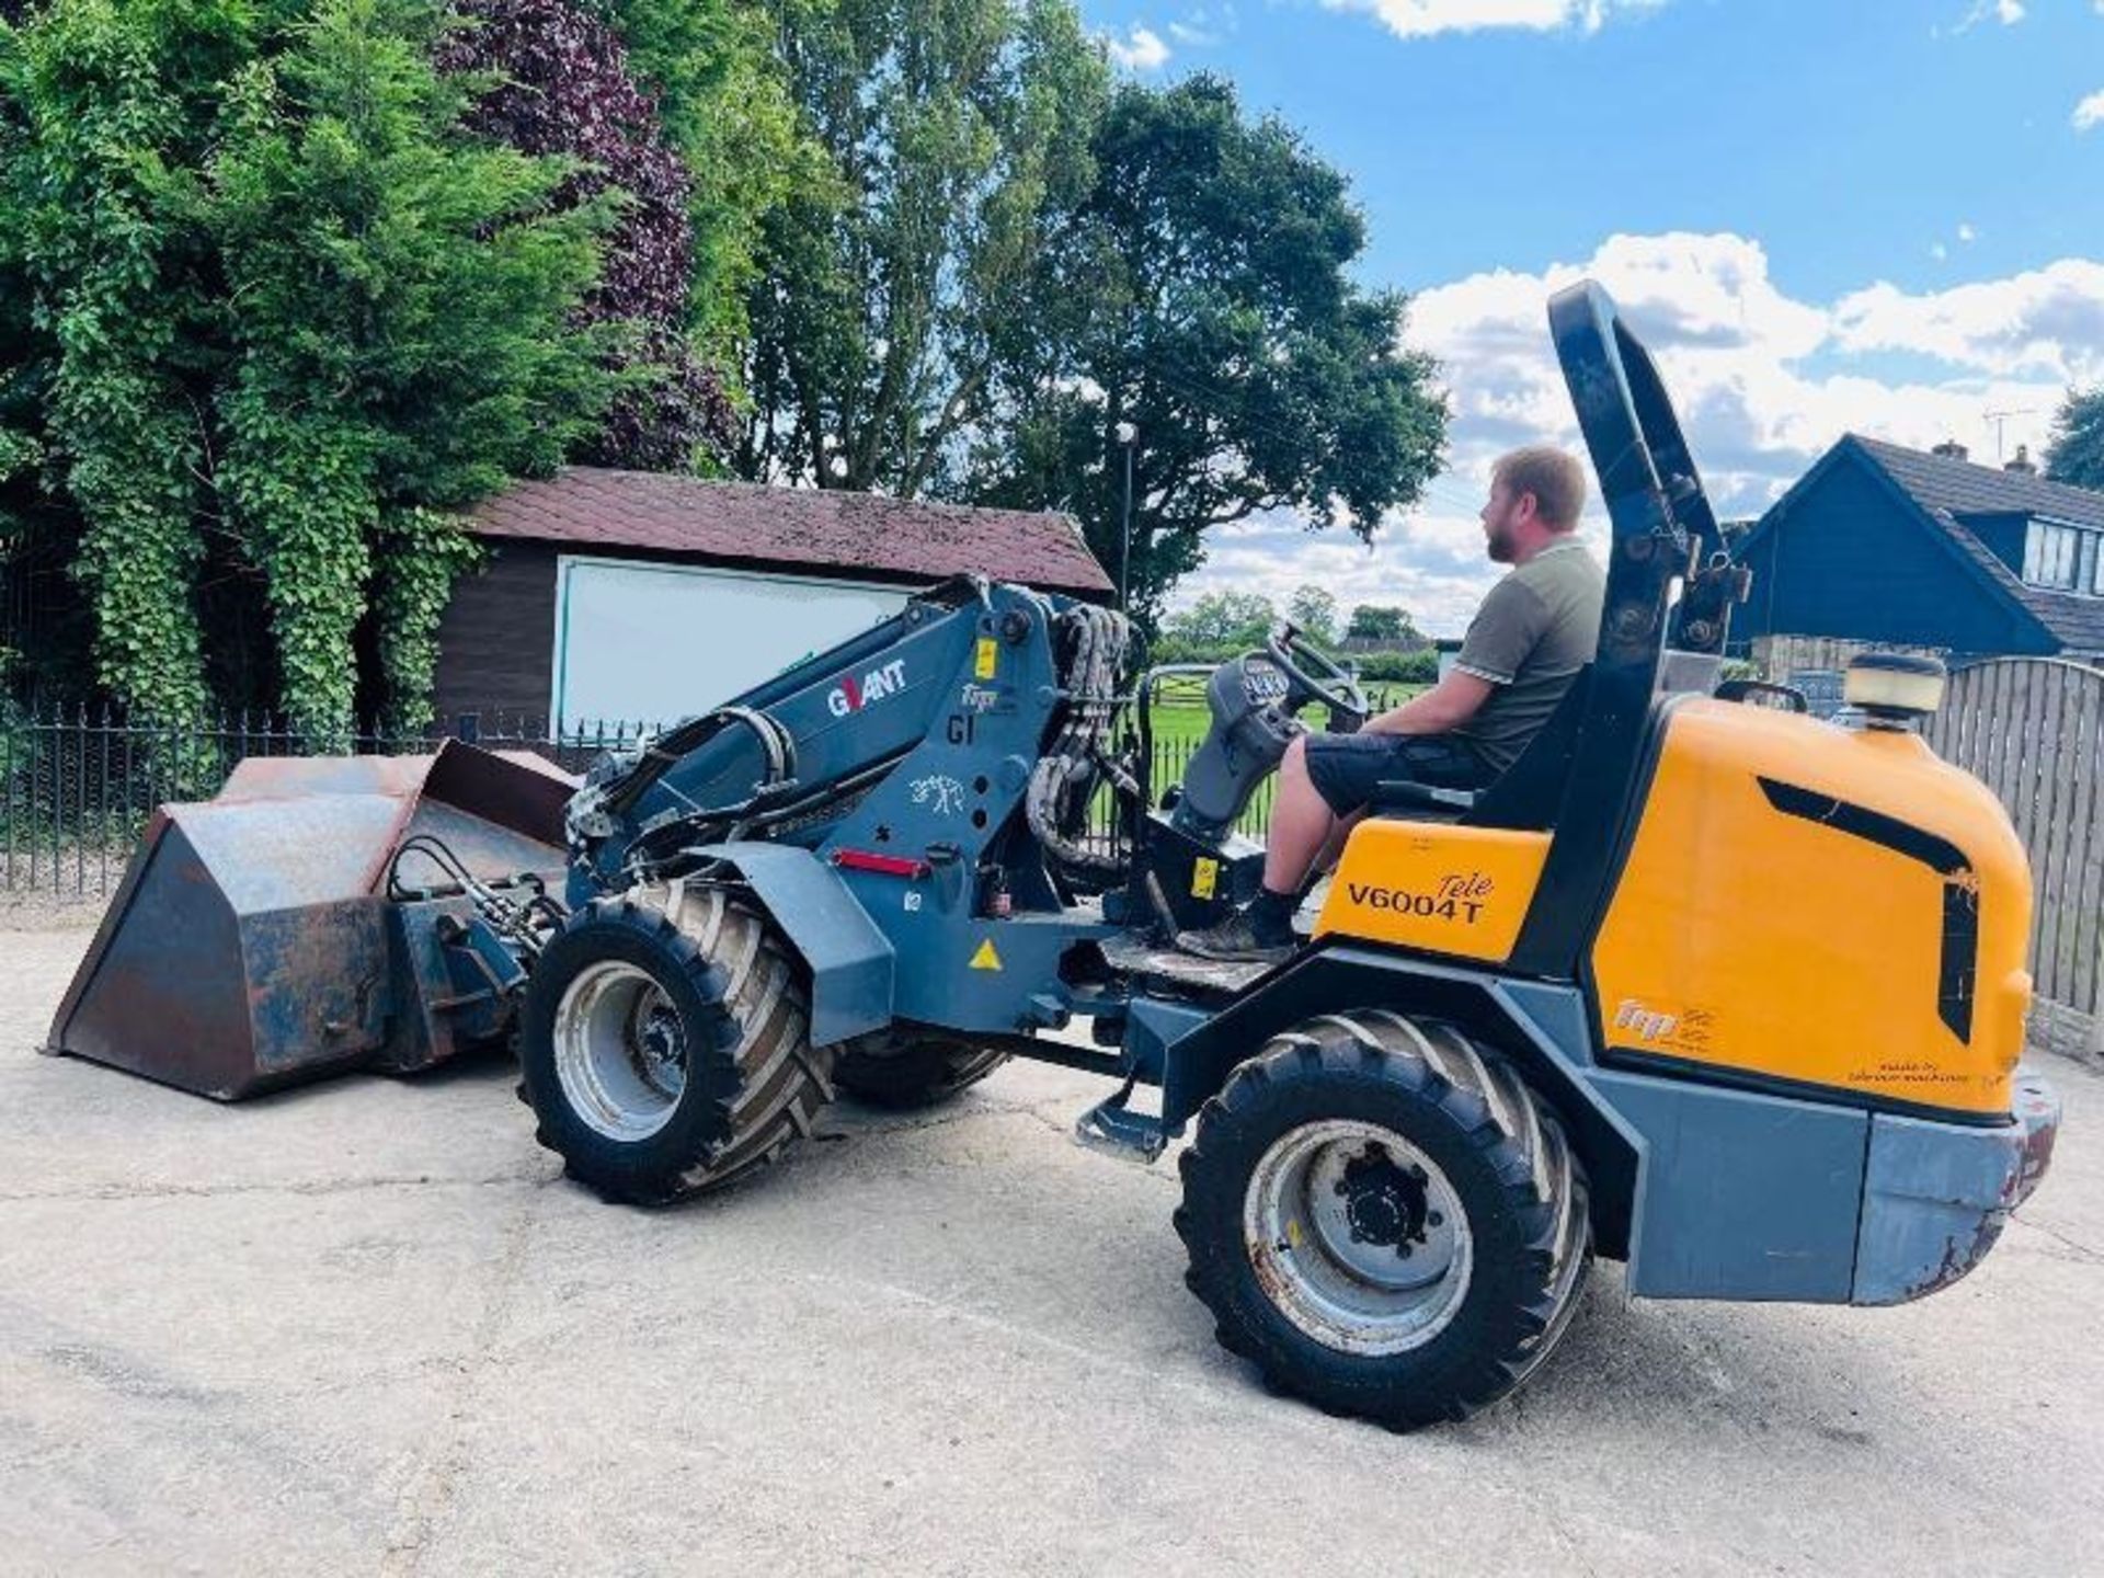
[[1071, 515], [568, 467], [467, 515], [488, 549], [440, 625], [444, 722], [665, 722], [953, 574], [1107, 600]]

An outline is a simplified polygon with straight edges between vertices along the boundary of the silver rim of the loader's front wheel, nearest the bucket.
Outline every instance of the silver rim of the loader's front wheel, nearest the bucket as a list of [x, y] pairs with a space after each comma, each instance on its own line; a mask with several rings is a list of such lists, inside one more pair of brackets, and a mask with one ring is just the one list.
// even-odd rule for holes
[[555, 1079], [576, 1113], [614, 1140], [646, 1140], [686, 1090], [686, 1025], [633, 964], [579, 970], [555, 1004]]

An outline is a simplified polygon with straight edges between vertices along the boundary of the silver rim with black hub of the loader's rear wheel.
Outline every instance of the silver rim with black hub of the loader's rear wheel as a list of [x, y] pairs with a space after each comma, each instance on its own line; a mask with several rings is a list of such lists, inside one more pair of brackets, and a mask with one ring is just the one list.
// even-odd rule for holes
[[1391, 1128], [1302, 1124], [1265, 1151], [1241, 1208], [1256, 1281], [1342, 1353], [1431, 1342], [1469, 1296], [1475, 1237], [1439, 1164]]

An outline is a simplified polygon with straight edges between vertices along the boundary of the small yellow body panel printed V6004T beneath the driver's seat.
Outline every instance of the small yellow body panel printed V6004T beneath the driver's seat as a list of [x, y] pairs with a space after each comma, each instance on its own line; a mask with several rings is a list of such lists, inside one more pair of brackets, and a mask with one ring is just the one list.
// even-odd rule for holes
[[1549, 858], [1546, 833], [1365, 821], [1351, 831], [1315, 936], [1502, 964]]

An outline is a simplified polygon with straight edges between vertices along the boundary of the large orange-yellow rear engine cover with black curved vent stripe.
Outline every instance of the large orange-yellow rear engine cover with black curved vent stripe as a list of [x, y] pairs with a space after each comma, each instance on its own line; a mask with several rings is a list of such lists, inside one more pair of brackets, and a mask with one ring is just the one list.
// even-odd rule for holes
[[2007, 1113], [2028, 930], [2007, 814], [1919, 736], [1694, 701], [1591, 964], [1610, 1048]]

